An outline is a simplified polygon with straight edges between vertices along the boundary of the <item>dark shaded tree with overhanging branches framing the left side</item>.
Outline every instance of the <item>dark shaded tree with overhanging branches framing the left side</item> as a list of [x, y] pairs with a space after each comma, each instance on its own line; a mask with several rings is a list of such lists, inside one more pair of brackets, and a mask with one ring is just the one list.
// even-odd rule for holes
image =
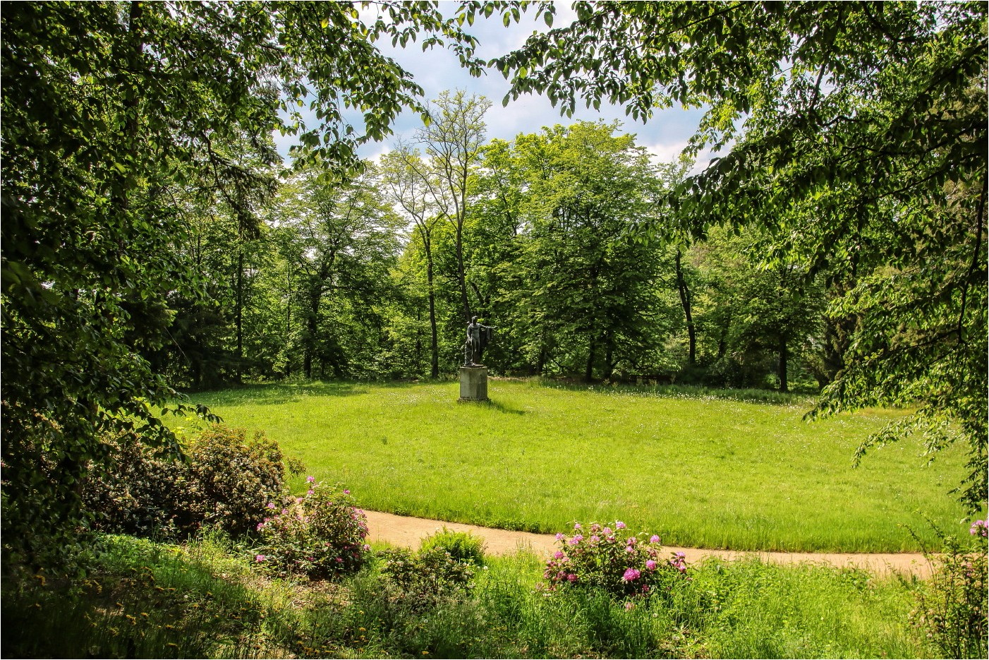
[[[4, 3], [5, 556], [71, 555], [77, 485], [102, 461], [103, 433], [177, 451], [156, 414], [175, 392], [128, 337], [129, 308], [200, 289], [171, 249], [185, 202], [220, 191], [246, 229], [274, 174], [273, 131], [340, 175], [405, 107], [424, 112], [377, 39], [449, 40], [479, 72], [475, 40], [435, 8], [377, 7], [365, 24], [349, 3]], [[300, 121], [307, 102], [316, 126]], [[233, 144], [264, 168], [226, 155]]]

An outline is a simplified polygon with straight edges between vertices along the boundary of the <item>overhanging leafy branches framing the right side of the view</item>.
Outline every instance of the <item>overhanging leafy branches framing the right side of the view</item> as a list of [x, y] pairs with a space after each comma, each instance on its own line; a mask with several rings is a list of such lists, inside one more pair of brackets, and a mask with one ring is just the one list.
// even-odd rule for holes
[[[537, 11], [552, 13], [549, 3]], [[766, 263], [841, 275], [860, 321], [817, 413], [915, 405], [932, 450], [960, 440], [987, 489], [984, 3], [575, 3], [571, 26], [494, 60], [509, 97], [706, 106], [697, 150], [731, 145], [671, 196], [704, 224], [756, 224]], [[465, 13], [477, 11], [468, 7]], [[870, 443], [862, 446], [862, 450]]]

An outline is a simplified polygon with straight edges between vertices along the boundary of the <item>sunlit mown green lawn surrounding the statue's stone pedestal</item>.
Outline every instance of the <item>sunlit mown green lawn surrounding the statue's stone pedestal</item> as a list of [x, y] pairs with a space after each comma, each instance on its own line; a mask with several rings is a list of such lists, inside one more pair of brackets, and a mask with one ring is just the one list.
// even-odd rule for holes
[[465, 404], [458, 388], [311, 383], [194, 400], [264, 430], [370, 510], [546, 532], [621, 519], [670, 545], [749, 550], [914, 550], [903, 523], [936, 544], [921, 513], [967, 531], [946, 495], [959, 451], [925, 467], [904, 441], [852, 468], [859, 441], [899, 413], [807, 424], [807, 402], [493, 380], [490, 403]]

